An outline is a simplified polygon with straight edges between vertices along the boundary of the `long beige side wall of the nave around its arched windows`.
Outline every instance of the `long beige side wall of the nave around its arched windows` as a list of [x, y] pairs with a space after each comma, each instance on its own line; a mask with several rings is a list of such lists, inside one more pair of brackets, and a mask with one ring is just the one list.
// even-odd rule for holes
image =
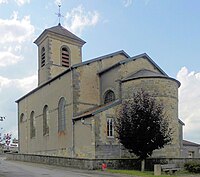
[[[32, 94], [19, 101], [19, 118], [24, 114], [24, 121], [19, 120], [19, 151], [21, 153], [37, 153], [52, 155], [57, 153], [70, 157], [72, 154], [72, 87], [71, 73], [60, 77], [51, 84], [35, 90]], [[61, 97], [66, 100], [66, 130], [58, 132], [58, 104]], [[52, 101], [53, 100], [53, 101]], [[39, 102], [39, 105], [38, 105]], [[48, 106], [49, 135], [43, 135], [43, 108]], [[35, 137], [30, 138], [30, 114], [35, 115]]]

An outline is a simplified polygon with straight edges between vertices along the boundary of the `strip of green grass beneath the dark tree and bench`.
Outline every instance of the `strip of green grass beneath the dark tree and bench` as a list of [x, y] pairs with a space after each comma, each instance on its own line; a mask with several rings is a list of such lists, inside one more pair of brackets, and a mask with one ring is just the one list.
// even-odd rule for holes
[[[127, 174], [127, 175], [132, 175], [132, 176], [155, 177], [152, 171], [141, 172], [141, 171], [136, 171], [136, 170], [111, 170], [111, 169], [107, 169], [106, 171], [110, 173]], [[170, 177], [182, 177], [182, 176], [190, 177], [191, 175], [200, 176], [199, 174], [195, 175], [195, 174], [190, 174], [185, 171], [180, 171], [180, 172], [176, 172], [174, 175], [163, 173], [161, 176], [156, 176], [156, 177], [169, 177], [169, 176]]]

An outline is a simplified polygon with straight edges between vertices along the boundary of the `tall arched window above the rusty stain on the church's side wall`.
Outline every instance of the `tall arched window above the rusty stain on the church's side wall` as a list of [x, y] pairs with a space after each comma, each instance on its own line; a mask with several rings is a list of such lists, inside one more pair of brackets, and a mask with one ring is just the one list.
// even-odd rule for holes
[[58, 131], [64, 131], [66, 129], [66, 101], [62, 97], [58, 103]]

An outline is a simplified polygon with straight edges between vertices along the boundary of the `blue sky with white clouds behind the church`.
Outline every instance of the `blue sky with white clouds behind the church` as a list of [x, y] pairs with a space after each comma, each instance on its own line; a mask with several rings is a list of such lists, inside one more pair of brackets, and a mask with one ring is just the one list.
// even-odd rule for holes
[[0, 122], [17, 137], [15, 100], [37, 86], [33, 41], [59, 23], [87, 43], [83, 61], [124, 50], [147, 53], [181, 82], [184, 139], [200, 143], [199, 0], [0, 0]]

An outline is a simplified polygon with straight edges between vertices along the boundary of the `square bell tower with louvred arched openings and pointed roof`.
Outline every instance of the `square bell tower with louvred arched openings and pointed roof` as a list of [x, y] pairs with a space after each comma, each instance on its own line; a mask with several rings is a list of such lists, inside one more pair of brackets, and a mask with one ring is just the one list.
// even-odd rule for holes
[[85, 41], [60, 23], [45, 29], [34, 43], [38, 46], [38, 86], [82, 62]]

